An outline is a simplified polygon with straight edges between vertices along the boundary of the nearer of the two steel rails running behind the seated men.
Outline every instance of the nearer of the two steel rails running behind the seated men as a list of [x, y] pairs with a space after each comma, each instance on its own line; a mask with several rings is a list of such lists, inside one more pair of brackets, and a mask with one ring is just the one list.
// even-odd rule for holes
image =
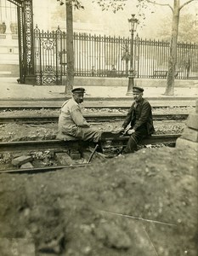
[[[85, 113], [84, 117], [88, 122], [107, 122], [107, 121], [120, 121], [125, 119], [126, 113]], [[188, 118], [187, 113], [164, 113], [164, 114], [153, 114], [153, 120], [184, 120]], [[11, 122], [22, 122], [22, 123], [38, 123], [46, 124], [58, 122], [59, 115], [20, 115], [20, 116], [1, 116], [0, 124], [11, 123]]]

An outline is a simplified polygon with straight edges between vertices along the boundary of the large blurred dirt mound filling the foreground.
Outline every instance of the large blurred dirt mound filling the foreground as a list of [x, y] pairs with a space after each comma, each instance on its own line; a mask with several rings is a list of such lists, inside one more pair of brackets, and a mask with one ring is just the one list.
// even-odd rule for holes
[[2, 174], [1, 255], [195, 256], [196, 168], [192, 152], [143, 148], [88, 167]]

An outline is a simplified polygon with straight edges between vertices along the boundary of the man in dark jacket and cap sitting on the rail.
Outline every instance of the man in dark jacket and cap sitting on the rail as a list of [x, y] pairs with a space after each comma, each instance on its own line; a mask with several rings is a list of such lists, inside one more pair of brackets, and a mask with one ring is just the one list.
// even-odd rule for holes
[[[140, 141], [155, 131], [150, 102], [142, 97], [143, 91], [143, 88], [133, 87], [134, 102], [128, 110], [121, 129], [124, 134], [130, 135], [127, 147], [122, 151], [123, 154], [133, 153], [137, 150]], [[129, 124], [130, 126], [127, 127]]]

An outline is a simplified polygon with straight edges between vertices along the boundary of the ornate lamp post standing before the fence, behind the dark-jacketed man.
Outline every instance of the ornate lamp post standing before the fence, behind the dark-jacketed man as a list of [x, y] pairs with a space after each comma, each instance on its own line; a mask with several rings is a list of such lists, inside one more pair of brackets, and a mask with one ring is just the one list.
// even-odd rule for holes
[[127, 95], [131, 95], [133, 93], [133, 85], [134, 85], [134, 77], [135, 71], [133, 69], [133, 36], [136, 31], [139, 20], [135, 19], [135, 15], [132, 15], [131, 19], [128, 19], [128, 23], [130, 25], [131, 32], [131, 48], [130, 48], [130, 70], [128, 76], [128, 86], [127, 86]]

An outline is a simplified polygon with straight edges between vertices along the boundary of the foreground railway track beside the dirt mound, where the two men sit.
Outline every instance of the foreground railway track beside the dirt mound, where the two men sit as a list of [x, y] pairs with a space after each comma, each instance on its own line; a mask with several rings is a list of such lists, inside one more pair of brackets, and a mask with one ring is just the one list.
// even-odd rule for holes
[[[142, 144], [167, 144], [174, 146], [177, 138], [180, 137], [180, 134], [167, 134], [167, 135], [153, 135], [151, 137], [145, 138]], [[113, 135], [110, 132], [105, 132], [105, 136], [102, 137], [102, 146], [104, 149], [111, 149], [111, 148], [120, 148], [123, 145], [127, 144], [128, 137], [122, 137]], [[88, 146], [88, 143], [87, 143]], [[28, 154], [28, 152], [40, 152], [40, 150], [51, 150], [56, 153], [63, 153], [67, 152], [68, 148], [79, 148], [78, 141], [59, 141], [59, 140], [48, 140], [48, 141], [23, 141], [23, 142], [9, 142], [9, 143], [0, 143], [0, 152], [3, 153], [16, 153], [16, 152], [24, 152]], [[95, 149], [95, 148], [94, 148]], [[93, 152], [94, 152], [93, 149]], [[93, 153], [89, 155], [89, 160], [93, 157]], [[101, 155], [97, 153], [98, 157], [105, 158], [105, 155]], [[31, 168], [14, 168], [14, 169], [6, 169], [0, 170], [0, 173], [37, 173], [37, 172], [54, 172], [57, 170], [61, 170], [64, 168], [76, 168], [76, 167], [86, 167], [89, 165], [88, 163], [81, 163], [81, 164], [71, 164], [71, 165], [61, 165], [61, 166], [41, 166], [41, 167], [32, 167]]]

